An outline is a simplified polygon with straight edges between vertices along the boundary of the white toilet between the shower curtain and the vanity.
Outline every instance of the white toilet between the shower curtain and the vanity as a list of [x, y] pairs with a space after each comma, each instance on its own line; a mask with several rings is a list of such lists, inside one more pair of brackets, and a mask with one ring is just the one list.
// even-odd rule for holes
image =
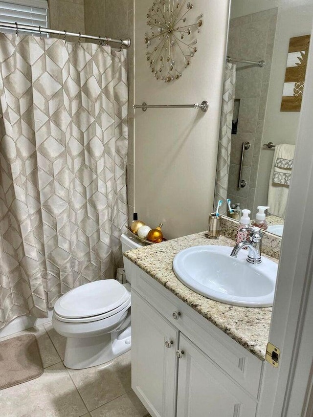
[[[121, 242], [123, 253], [145, 246], [126, 234]], [[131, 349], [130, 261], [123, 260], [126, 284], [113, 279], [91, 282], [68, 291], [56, 302], [52, 325], [67, 338], [67, 368], [100, 365]]]

